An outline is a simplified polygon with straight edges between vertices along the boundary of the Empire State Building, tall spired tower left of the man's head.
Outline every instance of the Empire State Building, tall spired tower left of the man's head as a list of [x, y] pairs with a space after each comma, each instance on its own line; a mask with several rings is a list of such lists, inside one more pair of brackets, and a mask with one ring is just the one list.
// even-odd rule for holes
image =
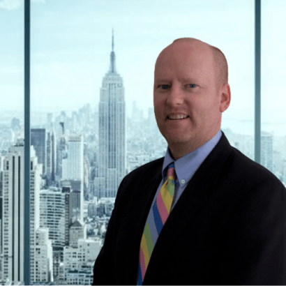
[[115, 68], [114, 36], [110, 69], [100, 88], [98, 198], [116, 197], [119, 184], [126, 175], [126, 119], [123, 80]]

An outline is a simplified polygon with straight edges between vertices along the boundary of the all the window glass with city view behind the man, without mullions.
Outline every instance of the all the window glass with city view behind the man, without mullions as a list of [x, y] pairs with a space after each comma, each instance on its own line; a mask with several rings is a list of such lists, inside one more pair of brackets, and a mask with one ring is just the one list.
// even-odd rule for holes
[[[86, 266], [85, 259], [77, 259], [81, 255], [96, 259], [123, 176], [165, 156], [167, 143], [153, 113], [153, 69], [160, 51], [175, 38], [198, 38], [224, 52], [232, 100], [221, 129], [232, 146], [255, 159], [255, 1], [193, 1], [195, 6], [192, 1], [167, 0], [164, 6], [163, 0], [31, 1], [29, 190], [31, 248], [37, 246], [30, 260], [31, 281], [49, 282], [53, 273], [55, 283], [77, 284], [80, 274], [67, 272], [68, 266]], [[283, 0], [262, 0], [261, 164], [283, 183], [286, 38], [278, 32], [286, 24], [285, 9]], [[8, 204], [13, 203], [10, 147], [24, 156], [23, 23], [22, 3], [0, 0], [6, 256], [13, 229], [8, 220]], [[108, 74], [115, 71], [120, 76], [114, 80]], [[113, 112], [110, 120], [108, 112]], [[108, 150], [110, 156], [103, 156]], [[23, 165], [17, 165], [20, 174]], [[41, 259], [53, 263], [42, 268]], [[10, 260], [4, 259], [3, 278], [13, 280], [10, 269]]]

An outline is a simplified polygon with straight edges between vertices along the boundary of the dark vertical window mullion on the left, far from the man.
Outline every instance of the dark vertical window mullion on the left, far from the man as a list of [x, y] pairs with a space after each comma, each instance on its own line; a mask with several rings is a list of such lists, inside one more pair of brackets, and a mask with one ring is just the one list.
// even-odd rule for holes
[[24, 1], [24, 285], [30, 285], [30, 0]]

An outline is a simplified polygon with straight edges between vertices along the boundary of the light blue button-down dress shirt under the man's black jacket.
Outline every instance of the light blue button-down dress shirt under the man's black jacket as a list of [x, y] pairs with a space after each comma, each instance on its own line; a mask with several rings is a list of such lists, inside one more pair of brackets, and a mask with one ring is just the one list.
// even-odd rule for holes
[[178, 202], [179, 197], [181, 197], [183, 190], [185, 190], [186, 186], [188, 185], [188, 182], [190, 181], [190, 179], [192, 179], [193, 175], [200, 167], [200, 165], [202, 165], [204, 159], [209, 155], [209, 153], [211, 153], [216, 144], [218, 144], [218, 141], [220, 140], [222, 134], [223, 133], [221, 132], [221, 130], [219, 130], [218, 133], [216, 133], [216, 136], [211, 138], [211, 140], [209, 140], [199, 148], [195, 149], [194, 151], [187, 153], [178, 160], [174, 160], [174, 158], [172, 158], [170, 149], [169, 147], [167, 148], [167, 153], [165, 155], [163, 163], [162, 181], [160, 182], [160, 185], [157, 189], [149, 213], [152, 211], [152, 206], [158, 196], [158, 193], [160, 192], [160, 188], [163, 186], [165, 179], [167, 179], [164, 177], [165, 169], [167, 168], [167, 166], [170, 165], [170, 163], [174, 162], [175, 172], [177, 176], [175, 197], [173, 199], [171, 208], [172, 211], [174, 205], [176, 204], [176, 202]]

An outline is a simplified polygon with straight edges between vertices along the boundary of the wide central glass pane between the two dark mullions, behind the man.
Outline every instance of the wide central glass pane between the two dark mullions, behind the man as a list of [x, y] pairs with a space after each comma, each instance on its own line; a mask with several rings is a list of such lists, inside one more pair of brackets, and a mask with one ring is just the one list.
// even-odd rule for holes
[[165, 156], [153, 71], [174, 39], [225, 53], [232, 103], [222, 130], [254, 158], [254, 3], [37, 1], [31, 35], [31, 140], [41, 166], [31, 280], [90, 285], [121, 179]]

